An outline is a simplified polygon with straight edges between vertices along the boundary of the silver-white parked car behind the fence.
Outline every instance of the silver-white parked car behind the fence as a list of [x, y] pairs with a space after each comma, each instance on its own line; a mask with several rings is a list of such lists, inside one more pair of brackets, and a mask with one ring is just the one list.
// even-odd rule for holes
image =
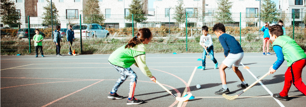
[[[73, 25], [74, 38], [80, 38], [80, 24]], [[110, 32], [107, 31], [99, 24], [82, 24], [82, 37], [85, 38], [106, 38], [110, 35]]]

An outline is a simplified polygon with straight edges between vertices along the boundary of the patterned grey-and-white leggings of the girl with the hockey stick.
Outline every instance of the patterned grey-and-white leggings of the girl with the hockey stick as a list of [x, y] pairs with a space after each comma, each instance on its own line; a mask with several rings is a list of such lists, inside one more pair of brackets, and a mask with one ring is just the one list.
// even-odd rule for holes
[[[109, 62], [110, 63], [110, 62]], [[110, 65], [112, 65], [110, 63]], [[116, 65], [112, 65], [120, 74], [121, 77], [115, 83], [113, 89], [111, 90], [112, 93], [116, 93], [120, 85], [126, 80], [127, 77], [130, 77], [130, 91], [129, 91], [129, 98], [134, 97], [135, 87], [137, 83], [137, 74], [129, 67], [129, 68], [122, 68]]]

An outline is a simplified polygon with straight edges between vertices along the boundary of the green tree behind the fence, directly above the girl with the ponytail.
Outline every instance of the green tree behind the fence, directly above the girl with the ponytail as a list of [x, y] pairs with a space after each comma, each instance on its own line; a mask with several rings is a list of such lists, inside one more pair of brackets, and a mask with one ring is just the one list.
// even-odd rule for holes
[[[147, 17], [144, 17], [145, 13], [142, 10], [143, 3], [141, 3], [141, 0], [132, 0], [132, 3], [129, 5], [129, 15], [124, 17], [125, 19], [134, 21], [136, 23], [143, 22], [147, 20]], [[134, 14], [134, 17], [132, 16]]]

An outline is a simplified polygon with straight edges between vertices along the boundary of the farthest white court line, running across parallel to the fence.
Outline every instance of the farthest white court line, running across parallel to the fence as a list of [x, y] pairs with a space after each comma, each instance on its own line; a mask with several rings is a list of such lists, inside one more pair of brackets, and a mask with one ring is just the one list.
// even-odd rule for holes
[[[202, 58], [202, 57], [146, 57], [146, 58]], [[21, 58], [21, 59], [108, 59], [108, 57], [107, 58]]]

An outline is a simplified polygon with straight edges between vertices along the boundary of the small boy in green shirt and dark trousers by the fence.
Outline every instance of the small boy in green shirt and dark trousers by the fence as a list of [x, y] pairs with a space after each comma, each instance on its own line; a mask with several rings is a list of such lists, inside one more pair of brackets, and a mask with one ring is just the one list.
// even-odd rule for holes
[[43, 56], [43, 43], [41, 42], [43, 41], [43, 36], [40, 35], [39, 32], [40, 32], [39, 29], [35, 29], [36, 35], [33, 36], [35, 53], [36, 53], [35, 57], [38, 57], [38, 49], [40, 50], [41, 57], [45, 57]]

